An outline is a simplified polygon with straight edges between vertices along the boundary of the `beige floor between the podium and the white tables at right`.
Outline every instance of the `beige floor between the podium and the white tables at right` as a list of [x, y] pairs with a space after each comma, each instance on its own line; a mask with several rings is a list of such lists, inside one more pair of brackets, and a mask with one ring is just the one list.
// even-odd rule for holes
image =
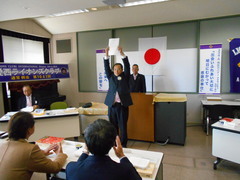
[[240, 164], [223, 160], [213, 170], [212, 135], [206, 136], [200, 126], [187, 127], [184, 146], [130, 140], [128, 147], [163, 152], [164, 180], [240, 180]]

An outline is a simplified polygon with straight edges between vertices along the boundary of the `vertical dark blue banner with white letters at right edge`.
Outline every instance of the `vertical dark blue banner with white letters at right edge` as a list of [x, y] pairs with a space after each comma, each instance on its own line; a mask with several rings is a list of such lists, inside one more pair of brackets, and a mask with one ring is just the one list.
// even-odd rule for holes
[[240, 39], [233, 39], [229, 46], [230, 92], [240, 93]]

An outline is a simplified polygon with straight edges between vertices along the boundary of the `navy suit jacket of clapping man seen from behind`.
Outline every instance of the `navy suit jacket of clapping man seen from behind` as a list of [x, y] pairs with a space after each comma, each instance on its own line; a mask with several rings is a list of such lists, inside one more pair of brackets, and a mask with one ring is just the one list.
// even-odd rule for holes
[[88, 156], [85, 153], [77, 162], [66, 167], [68, 180], [139, 180], [142, 179], [127, 157], [120, 163], [109, 156]]

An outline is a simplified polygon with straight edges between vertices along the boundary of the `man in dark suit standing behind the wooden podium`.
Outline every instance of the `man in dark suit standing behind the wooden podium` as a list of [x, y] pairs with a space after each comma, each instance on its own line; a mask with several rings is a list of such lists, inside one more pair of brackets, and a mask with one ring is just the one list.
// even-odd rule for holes
[[132, 72], [129, 79], [129, 86], [131, 92], [146, 92], [146, 83], [145, 76], [143, 74], [138, 73], [139, 68], [137, 64], [132, 66]]

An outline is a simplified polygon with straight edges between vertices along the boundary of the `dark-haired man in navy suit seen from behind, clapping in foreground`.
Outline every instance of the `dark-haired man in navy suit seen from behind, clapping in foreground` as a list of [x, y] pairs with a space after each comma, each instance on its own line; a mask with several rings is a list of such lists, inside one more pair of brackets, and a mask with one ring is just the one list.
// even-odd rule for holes
[[[86, 147], [77, 162], [66, 167], [68, 180], [138, 180], [142, 179], [125, 157], [115, 127], [106, 120], [98, 119], [84, 131]], [[116, 146], [114, 145], [116, 141]], [[113, 161], [108, 153], [113, 147], [120, 163]], [[89, 155], [89, 152], [92, 155]]]

